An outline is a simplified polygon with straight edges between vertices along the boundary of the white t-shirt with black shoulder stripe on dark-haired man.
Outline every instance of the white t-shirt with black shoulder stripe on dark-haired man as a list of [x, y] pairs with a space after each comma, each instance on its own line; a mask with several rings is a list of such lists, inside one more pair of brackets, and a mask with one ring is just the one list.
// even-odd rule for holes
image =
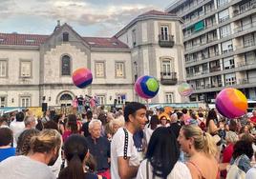
[[[128, 133], [127, 157], [130, 157], [130, 166], [139, 166], [139, 153], [135, 147], [133, 134], [126, 129]], [[124, 156], [125, 133], [123, 128], [117, 129], [111, 142], [111, 178], [119, 179], [117, 158]]]

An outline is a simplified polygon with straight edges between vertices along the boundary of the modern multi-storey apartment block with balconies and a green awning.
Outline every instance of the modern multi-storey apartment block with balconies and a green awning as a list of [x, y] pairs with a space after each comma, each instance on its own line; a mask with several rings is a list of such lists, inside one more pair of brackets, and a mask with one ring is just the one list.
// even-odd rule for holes
[[178, 0], [165, 11], [184, 21], [191, 101], [214, 102], [227, 87], [256, 98], [256, 0]]

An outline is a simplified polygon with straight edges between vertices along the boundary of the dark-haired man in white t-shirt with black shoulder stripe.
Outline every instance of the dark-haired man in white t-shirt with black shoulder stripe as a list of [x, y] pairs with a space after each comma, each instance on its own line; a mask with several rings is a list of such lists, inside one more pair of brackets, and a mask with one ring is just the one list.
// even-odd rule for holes
[[111, 143], [111, 178], [134, 178], [139, 169], [139, 153], [134, 145], [133, 134], [144, 129], [146, 107], [131, 102], [124, 108], [125, 127], [117, 129]]

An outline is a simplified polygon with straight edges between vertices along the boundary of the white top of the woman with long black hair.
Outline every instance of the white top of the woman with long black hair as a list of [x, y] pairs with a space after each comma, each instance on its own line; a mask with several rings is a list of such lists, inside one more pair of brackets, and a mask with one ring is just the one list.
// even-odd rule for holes
[[[147, 169], [146, 169], [147, 160], [143, 160], [142, 163], [139, 166], [139, 171], [137, 174], [137, 179], [146, 179], [147, 177]], [[153, 178], [153, 168], [148, 162], [149, 168], [148, 168], [148, 178]], [[156, 179], [159, 179], [160, 177], [155, 177]], [[186, 167], [185, 164], [178, 161], [174, 168], [171, 170], [169, 175], [167, 176], [167, 179], [192, 179], [192, 176], [190, 174], [189, 169]]]

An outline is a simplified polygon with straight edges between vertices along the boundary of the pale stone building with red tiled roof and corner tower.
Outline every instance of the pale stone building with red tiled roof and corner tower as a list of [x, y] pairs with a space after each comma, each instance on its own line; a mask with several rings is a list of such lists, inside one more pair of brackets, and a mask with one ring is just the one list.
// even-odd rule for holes
[[[1, 107], [71, 105], [76, 95], [96, 96], [101, 104], [141, 101], [134, 91], [140, 75], [160, 81], [150, 102], [181, 102], [184, 81], [181, 19], [150, 10], [110, 38], [82, 37], [68, 24], [51, 35], [0, 33]], [[92, 70], [90, 87], [78, 89], [74, 70]]]

